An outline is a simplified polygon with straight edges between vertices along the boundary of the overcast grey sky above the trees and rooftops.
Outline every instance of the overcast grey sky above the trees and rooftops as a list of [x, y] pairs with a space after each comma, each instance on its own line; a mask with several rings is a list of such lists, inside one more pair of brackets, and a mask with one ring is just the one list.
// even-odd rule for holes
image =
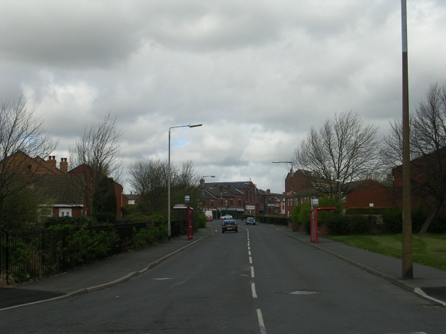
[[[412, 112], [446, 80], [446, 1], [407, 13]], [[29, 97], [58, 161], [107, 113], [125, 167], [203, 123], [171, 130], [174, 163], [282, 193], [290, 166], [272, 161], [310, 127], [353, 110], [387, 133], [401, 117], [401, 1], [0, 0], [0, 70], [1, 100]]]

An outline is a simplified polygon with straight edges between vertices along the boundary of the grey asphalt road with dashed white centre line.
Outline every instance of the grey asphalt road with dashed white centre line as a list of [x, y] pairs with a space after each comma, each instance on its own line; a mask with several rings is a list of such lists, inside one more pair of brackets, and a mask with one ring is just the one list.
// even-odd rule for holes
[[0, 312], [0, 333], [446, 333], [446, 308], [272, 228], [220, 231], [114, 287]]

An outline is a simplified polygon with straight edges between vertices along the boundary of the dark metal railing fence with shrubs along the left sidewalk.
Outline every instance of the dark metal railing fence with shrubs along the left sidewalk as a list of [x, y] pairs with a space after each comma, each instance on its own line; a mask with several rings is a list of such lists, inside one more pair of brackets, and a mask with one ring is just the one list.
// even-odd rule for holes
[[[126, 250], [125, 241], [132, 239], [135, 229], [141, 230], [145, 226], [146, 223], [132, 223], [112, 227], [95, 226], [86, 229], [91, 233], [113, 232], [117, 242], [100, 255], [87, 258], [87, 261], [83, 260], [82, 264], [100, 260], [100, 258]], [[76, 267], [79, 264], [78, 262], [70, 262], [70, 259], [66, 258], [70, 246], [73, 248], [70, 245], [70, 242], [72, 242], [70, 236], [73, 233], [75, 231], [49, 232], [49, 230], [37, 230], [0, 234], [0, 283], [9, 285], [11, 277], [15, 280], [25, 281]], [[77, 247], [79, 248], [79, 245]], [[72, 251], [75, 252], [76, 250]]]

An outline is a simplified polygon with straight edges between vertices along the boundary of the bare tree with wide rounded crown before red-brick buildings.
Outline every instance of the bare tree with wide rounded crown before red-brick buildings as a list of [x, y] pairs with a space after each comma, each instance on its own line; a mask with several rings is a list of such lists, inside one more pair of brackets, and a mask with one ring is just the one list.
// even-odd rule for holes
[[352, 181], [374, 178], [379, 149], [378, 127], [364, 125], [349, 111], [335, 114], [319, 130], [312, 127], [295, 149], [293, 165], [312, 172], [308, 176], [314, 188], [332, 195], [338, 189], [348, 192]]

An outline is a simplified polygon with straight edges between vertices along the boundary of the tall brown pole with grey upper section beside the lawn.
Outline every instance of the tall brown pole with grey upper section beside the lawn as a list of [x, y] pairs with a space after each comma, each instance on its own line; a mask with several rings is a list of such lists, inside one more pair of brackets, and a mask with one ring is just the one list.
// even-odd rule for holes
[[407, 57], [406, 0], [401, 0], [401, 37], [403, 44], [403, 280], [413, 278], [412, 214], [410, 207], [410, 127]]

